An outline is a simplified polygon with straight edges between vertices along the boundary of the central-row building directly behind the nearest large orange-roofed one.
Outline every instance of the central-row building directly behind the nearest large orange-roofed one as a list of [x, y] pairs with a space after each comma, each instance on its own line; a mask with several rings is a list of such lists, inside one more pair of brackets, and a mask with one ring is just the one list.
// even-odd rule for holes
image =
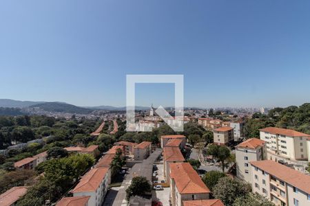
[[165, 147], [163, 148], [163, 172], [165, 181], [169, 183], [170, 169], [169, 163], [178, 163], [185, 161], [182, 152], [176, 147]]

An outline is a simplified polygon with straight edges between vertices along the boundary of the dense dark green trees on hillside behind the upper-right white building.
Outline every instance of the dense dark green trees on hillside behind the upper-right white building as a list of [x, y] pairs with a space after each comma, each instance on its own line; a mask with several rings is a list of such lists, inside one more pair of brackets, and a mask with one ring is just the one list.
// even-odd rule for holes
[[247, 119], [243, 131], [245, 137], [259, 137], [258, 129], [268, 126], [288, 128], [310, 134], [310, 103], [302, 104], [299, 107], [273, 108], [268, 115], [255, 113], [251, 119]]

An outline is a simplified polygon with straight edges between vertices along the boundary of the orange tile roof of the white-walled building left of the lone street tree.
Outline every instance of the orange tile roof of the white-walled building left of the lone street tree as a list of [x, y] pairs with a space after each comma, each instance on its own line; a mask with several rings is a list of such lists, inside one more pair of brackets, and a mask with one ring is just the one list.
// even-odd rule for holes
[[94, 192], [98, 189], [99, 185], [105, 178], [109, 168], [92, 168], [87, 172], [80, 182], [72, 190], [73, 193], [76, 192]]

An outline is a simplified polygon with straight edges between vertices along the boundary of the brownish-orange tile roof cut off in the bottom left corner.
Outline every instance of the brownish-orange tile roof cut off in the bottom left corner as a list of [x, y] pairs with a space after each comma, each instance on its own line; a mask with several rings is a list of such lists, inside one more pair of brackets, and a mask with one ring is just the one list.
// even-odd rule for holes
[[7, 190], [3, 194], [0, 194], [0, 205], [1, 206], [10, 206], [13, 205], [16, 201], [19, 200], [27, 192], [28, 187], [12, 187], [10, 190]]

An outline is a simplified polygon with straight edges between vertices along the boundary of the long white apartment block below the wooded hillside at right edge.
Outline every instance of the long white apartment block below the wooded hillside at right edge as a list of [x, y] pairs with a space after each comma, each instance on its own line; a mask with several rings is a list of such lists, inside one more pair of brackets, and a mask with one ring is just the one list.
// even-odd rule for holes
[[272, 157], [274, 154], [292, 160], [307, 160], [307, 139], [309, 137], [310, 135], [285, 128], [260, 129], [260, 139], [267, 143], [268, 159], [276, 158]]

